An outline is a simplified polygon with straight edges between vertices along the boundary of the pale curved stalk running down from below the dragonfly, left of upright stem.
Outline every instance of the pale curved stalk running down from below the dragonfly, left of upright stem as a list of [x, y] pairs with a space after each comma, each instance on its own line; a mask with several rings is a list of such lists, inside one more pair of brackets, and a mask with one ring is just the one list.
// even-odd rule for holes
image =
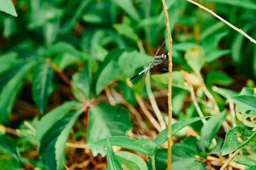
[[147, 73], [146, 75], [146, 92], [147, 92], [147, 95], [148, 95], [148, 99], [150, 99], [150, 103], [151, 103], [151, 106], [159, 120], [159, 123], [160, 123], [160, 126], [162, 128], [162, 130], [164, 130], [166, 128], [166, 125], [164, 123], [164, 120], [163, 120], [163, 116], [157, 106], [157, 102], [156, 102], [156, 99], [154, 97], [154, 94], [151, 90], [151, 83], [150, 83], [150, 72]]

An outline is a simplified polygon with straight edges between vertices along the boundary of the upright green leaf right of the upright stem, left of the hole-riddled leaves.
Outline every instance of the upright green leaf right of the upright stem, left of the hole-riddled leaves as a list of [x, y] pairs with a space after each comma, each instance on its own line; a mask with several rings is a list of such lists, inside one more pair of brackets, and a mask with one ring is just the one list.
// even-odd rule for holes
[[200, 133], [200, 145], [203, 152], [208, 152], [212, 139], [215, 137], [226, 117], [223, 111], [211, 116], [203, 125]]

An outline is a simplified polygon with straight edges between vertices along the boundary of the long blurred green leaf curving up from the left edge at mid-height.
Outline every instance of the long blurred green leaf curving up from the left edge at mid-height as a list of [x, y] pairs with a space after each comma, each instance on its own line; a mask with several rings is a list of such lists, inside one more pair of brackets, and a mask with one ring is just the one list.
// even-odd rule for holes
[[23, 62], [1, 75], [0, 80], [0, 123], [8, 123], [12, 106], [27, 74], [35, 65], [34, 62]]

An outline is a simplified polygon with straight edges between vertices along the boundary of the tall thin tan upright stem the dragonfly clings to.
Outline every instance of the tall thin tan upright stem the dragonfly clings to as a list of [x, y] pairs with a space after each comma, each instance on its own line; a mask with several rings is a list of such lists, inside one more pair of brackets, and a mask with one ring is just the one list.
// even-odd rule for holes
[[169, 53], [168, 53], [168, 60], [169, 60], [169, 81], [168, 81], [168, 136], [167, 136], [167, 144], [168, 144], [168, 159], [167, 159], [167, 170], [172, 169], [172, 117], [173, 117], [173, 107], [172, 107], [172, 72], [173, 72], [173, 39], [172, 34], [170, 33], [170, 23], [169, 23], [169, 16], [168, 16], [168, 7], [166, 6], [165, 0], [162, 0], [163, 8], [164, 8], [164, 17], [166, 22], [166, 29], [168, 33], [168, 40], [169, 40]]

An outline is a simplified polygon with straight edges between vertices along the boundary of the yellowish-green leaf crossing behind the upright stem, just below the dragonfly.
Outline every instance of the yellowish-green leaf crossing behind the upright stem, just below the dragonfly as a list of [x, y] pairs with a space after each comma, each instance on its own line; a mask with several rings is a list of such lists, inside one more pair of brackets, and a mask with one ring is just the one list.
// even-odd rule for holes
[[[152, 83], [160, 88], [168, 88], [169, 74], [168, 72], [159, 75], [152, 75]], [[185, 81], [182, 77], [180, 71], [173, 71], [172, 73], [172, 86], [188, 90], [188, 87], [185, 85]]]

